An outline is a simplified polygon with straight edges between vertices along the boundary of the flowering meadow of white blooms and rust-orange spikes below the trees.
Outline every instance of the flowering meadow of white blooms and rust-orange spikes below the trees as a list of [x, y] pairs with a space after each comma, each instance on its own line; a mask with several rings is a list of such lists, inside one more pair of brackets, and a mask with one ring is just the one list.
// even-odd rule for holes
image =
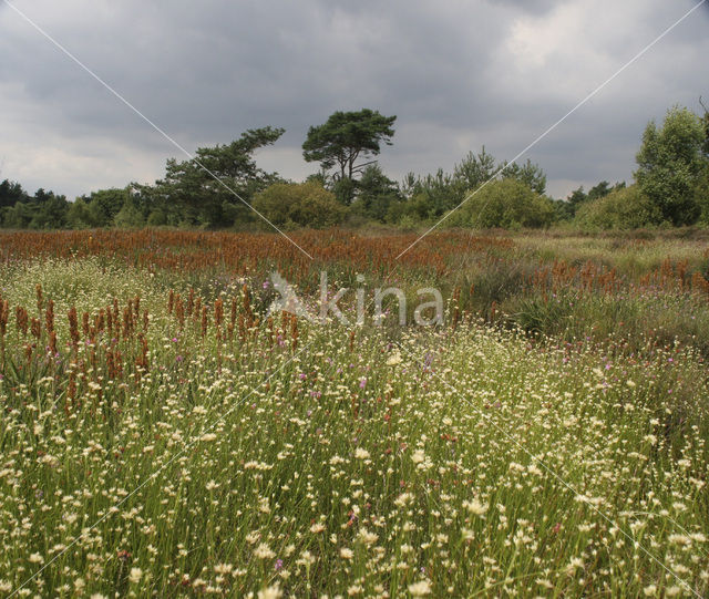
[[0, 234], [3, 596], [709, 593], [709, 237], [292, 239]]

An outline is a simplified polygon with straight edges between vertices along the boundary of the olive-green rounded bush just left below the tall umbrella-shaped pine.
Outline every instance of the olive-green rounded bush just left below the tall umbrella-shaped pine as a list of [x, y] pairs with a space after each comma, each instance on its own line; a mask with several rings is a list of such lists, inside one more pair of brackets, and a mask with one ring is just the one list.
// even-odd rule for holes
[[[335, 195], [317, 183], [276, 183], [257, 194], [253, 205], [274, 225], [286, 229], [331, 227], [347, 215], [347, 208]], [[268, 225], [264, 223], [261, 227]]]

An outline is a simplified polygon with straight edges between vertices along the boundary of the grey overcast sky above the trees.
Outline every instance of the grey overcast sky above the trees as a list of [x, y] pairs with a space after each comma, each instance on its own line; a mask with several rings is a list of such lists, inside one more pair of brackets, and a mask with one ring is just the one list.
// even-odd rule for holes
[[[295, 180], [336, 110], [397, 115], [390, 177], [512, 158], [695, 1], [12, 0], [188, 151], [287, 130], [257, 162]], [[643, 130], [709, 100], [709, 1], [536, 144], [565, 197], [629, 180]], [[153, 182], [185, 158], [0, 0], [0, 179], [66, 194]]]

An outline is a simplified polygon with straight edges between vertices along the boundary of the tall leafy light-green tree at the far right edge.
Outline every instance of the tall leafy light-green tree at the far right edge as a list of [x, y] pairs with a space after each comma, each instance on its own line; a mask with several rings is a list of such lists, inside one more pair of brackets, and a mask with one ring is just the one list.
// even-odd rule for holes
[[705, 142], [699, 116], [678, 106], [667, 112], [661, 127], [650, 121], [643, 134], [636, 180], [661, 218], [675, 226], [691, 225], [700, 215], [695, 188], [707, 164]]

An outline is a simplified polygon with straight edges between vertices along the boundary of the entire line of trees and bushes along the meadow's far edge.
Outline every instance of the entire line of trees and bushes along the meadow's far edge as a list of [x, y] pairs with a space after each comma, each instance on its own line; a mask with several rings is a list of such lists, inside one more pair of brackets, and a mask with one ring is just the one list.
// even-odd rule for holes
[[255, 153], [282, 128], [248, 130], [229, 144], [197, 148], [192, 159], [169, 158], [152, 185], [131, 183], [68, 202], [17, 182], [0, 183], [0, 226], [12, 229], [96, 227], [279, 228], [379, 223], [423, 227], [527, 228], [569, 224], [586, 229], [709, 225], [709, 113], [670, 109], [649, 122], [634, 182], [599, 182], [566, 199], [546, 193], [542, 167], [497, 161], [483, 146], [451, 172], [387, 176], [376, 157], [391, 145], [395, 116], [363, 109], [336, 112], [309, 128], [304, 158], [319, 171], [294, 183], [257, 166]]

